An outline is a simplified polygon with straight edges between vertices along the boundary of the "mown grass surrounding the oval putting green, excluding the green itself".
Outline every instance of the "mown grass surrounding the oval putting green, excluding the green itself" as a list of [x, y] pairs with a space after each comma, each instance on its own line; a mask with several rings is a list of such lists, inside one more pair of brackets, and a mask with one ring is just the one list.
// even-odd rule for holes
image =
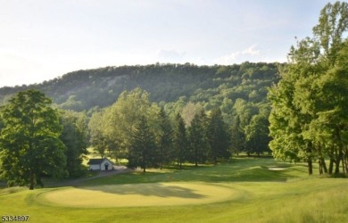
[[[270, 166], [286, 167], [272, 171]], [[153, 170], [98, 178], [85, 186], [155, 182], [219, 183], [239, 193], [228, 202], [202, 205], [68, 208], [37, 201], [52, 188], [7, 194], [0, 191], [0, 214], [29, 214], [31, 222], [347, 222], [348, 180], [308, 178], [302, 165], [271, 159], [235, 159], [215, 167]], [[3, 192], [3, 193], [1, 193]]]

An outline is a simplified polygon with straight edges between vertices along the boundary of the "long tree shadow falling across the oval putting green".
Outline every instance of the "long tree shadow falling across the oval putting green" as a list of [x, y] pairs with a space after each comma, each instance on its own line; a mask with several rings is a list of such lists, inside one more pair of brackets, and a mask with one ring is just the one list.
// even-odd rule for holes
[[206, 195], [197, 194], [195, 190], [183, 186], [170, 186], [161, 183], [156, 184], [137, 184], [137, 185], [121, 185], [121, 186], [90, 186], [79, 187], [79, 189], [87, 191], [100, 191], [109, 194], [137, 194], [145, 196], [157, 197], [178, 197], [187, 199], [201, 199]]

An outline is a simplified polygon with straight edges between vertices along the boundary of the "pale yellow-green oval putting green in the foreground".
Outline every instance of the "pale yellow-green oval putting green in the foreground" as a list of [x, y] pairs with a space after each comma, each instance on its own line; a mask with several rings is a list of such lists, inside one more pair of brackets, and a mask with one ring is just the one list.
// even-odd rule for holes
[[236, 194], [233, 189], [213, 184], [156, 183], [65, 187], [40, 194], [37, 199], [69, 207], [135, 207], [223, 202]]

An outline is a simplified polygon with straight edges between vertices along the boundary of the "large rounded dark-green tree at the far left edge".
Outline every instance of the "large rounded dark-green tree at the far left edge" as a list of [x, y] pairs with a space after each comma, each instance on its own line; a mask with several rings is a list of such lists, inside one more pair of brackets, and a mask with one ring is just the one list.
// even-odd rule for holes
[[51, 99], [37, 90], [15, 95], [4, 105], [1, 117], [1, 177], [9, 186], [42, 184], [42, 176], [62, 177], [65, 146], [59, 139], [62, 126]]

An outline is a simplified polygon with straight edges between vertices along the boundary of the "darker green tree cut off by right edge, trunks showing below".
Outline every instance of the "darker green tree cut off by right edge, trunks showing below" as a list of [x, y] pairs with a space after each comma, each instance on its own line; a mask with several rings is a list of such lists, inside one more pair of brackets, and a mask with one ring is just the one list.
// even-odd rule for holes
[[[336, 56], [335, 66], [327, 70], [320, 78], [316, 79], [315, 85], [319, 89], [318, 96], [318, 119], [311, 122], [307, 132], [319, 145], [319, 169], [323, 172], [347, 173], [348, 157], [348, 40], [344, 42]], [[326, 168], [324, 157], [330, 157], [329, 168]], [[334, 164], [336, 165], [334, 169]]]

